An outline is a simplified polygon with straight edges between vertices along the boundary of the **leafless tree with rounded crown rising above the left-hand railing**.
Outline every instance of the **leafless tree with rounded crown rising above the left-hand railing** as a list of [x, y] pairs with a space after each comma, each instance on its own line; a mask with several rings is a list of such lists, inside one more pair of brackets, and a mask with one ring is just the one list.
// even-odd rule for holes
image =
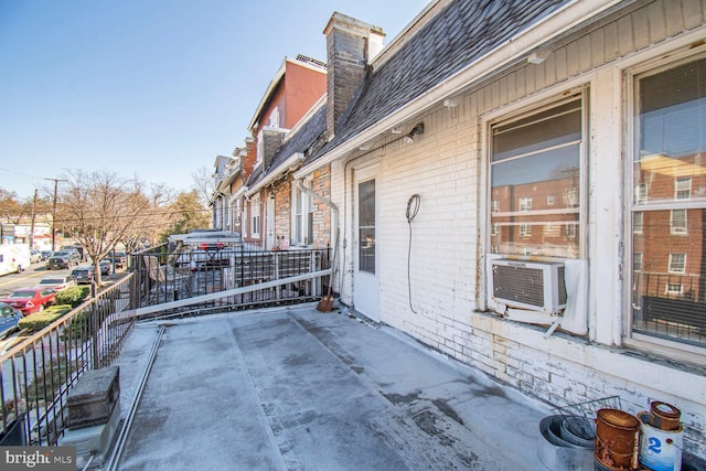
[[[100, 286], [99, 261], [143, 221], [149, 199], [138, 182], [111, 172], [69, 172], [61, 192], [61, 225], [84, 247]], [[58, 223], [58, 221], [57, 221]]]

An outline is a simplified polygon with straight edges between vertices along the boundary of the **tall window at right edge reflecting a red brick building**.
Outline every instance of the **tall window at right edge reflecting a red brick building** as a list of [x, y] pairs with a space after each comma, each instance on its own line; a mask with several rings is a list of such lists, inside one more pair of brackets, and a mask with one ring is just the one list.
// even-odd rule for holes
[[641, 254], [641, 269], [631, 270], [631, 335], [705, 347], [706, 56], [645, 67], [631, 83], [628, 220], [633, 260]]

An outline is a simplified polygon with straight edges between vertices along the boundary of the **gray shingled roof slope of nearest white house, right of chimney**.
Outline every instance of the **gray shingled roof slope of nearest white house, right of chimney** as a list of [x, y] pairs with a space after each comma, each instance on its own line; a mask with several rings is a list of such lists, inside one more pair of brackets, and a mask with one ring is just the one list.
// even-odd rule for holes
[[456, 0], [368, 74], [317, 160], [571, 0]]

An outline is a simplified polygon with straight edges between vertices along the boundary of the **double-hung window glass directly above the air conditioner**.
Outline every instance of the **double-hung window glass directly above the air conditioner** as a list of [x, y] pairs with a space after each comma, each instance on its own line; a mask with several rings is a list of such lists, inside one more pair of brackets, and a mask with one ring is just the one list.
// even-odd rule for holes
[[581, 256], [585, 100], [584, 90], [491, 127], [493, 251]]

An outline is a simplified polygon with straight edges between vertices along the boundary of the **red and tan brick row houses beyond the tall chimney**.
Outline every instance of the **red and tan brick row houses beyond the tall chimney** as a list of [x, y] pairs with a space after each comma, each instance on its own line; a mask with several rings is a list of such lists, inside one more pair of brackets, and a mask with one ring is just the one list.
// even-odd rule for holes
[[[288, 135], [325, 94], [325, 74], [322, 62], [303, 55], [286, 57], [250, 119], [250, 137], [244, 147], [234, 150], [224, 172], [216, 172], [214, 194], [223, 202], [220, 212], [227, 214], [223, 217], [227, 223], [214, 227], [240, 233], [247, 247], [269, 250], [311, 245], [310, 235], [297, 238], [285, 224], [286, 215], [278, 214], [282, 208], [296, 207], [297, 203], [291, 202], [298, 196], [276, 168], [280, 164], [278, 151]], [[295, 164], [288, 162], [289, 167]], [[309, 206], [302, 211], [309, 211]], [[214, 223], [216, 217], [214, 207]]]

